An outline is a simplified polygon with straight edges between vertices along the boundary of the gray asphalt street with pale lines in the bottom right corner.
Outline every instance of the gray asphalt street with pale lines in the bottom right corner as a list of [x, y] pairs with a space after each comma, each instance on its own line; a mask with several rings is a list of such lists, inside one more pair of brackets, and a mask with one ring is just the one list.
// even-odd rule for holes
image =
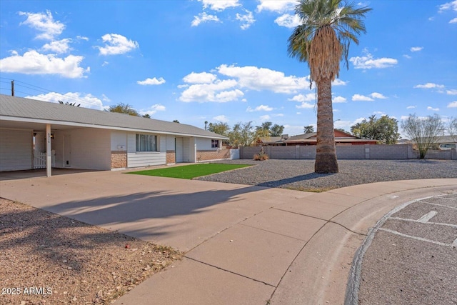
[[398, 206], [361, 246], [346, 304], [457, 304], [456, 248], [457, 194]]

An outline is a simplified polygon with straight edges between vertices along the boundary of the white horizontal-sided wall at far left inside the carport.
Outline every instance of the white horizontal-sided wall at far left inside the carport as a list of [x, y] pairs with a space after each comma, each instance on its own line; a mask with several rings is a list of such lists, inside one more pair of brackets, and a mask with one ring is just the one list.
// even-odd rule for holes
[[32, 169], [32, 131], [0, 129], [0, 171]]

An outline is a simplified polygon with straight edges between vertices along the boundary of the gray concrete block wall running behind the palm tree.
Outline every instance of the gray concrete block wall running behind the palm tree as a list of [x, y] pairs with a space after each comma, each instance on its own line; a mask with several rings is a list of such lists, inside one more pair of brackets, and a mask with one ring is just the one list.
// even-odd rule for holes
[[[260, 146], [240, 147], [240, 159], [253, 159], [260, 151]], [[270, 159], [315, 159], [316, 146], [263, 146], [263, 151]], [[411, 144], [393, 145], [345, 145], [336, 146], [338, 159], [418, 159], [418, 151]], [[457, 151], [428, 151], [426, 159], [456, 160]]]

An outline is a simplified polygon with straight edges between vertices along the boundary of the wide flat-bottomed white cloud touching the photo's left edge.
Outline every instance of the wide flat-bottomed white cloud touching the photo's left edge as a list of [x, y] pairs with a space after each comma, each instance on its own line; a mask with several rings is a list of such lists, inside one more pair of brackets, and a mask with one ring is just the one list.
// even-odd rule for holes
[[16, 51], [12, 56], [0, 59], [0, 71], [22, 74], [56, 74], [69, 79], [84, 77], [84, 73], [89, 72], [79, 66], [83, 56], [69, 55], [59, 58], [53, 54], [39, 54], [31, 50], [20, 56]]

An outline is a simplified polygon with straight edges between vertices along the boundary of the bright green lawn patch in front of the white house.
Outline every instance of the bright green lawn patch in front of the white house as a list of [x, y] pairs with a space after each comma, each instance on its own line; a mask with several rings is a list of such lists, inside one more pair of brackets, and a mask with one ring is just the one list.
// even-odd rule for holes
[[159, 176], [179, 179], [194, 179], [200, 176], [221, 173], [222, 171], [231, 171], [232, 169], [241, 169], [250, 166], [248, 164], [191, 164], [185, 166], [174, 166], [163, 169], [149, 169], [146, 171], [131, 171], [127, 174], [137, 174], [146, 176]]

